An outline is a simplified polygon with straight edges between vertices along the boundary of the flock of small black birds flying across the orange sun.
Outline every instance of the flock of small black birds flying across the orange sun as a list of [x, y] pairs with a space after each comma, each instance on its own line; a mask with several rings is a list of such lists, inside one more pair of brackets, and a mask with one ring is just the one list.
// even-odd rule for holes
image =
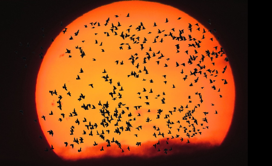
[[[114, 16], [115, 18], [119, 17], [118, 15]], [[127, 14], [125, 17], [130, 17], [129, 14]], [[177, 18], [177, 20], [182, 20], [181, 17]], [[165, 19], [165, 24], [167, 24], [168, 22], [170, 22], [171, 20], [169, 19]], [[207, 21], [209, 24], [211, 24], [210, 20]], [[156, 22], [152, 23], [153, 27], [157, 27], [159, 25], [157, 25]], [[61, 26], [62, 26], [62, 22], [61, 22]], [[205, 33], [207, 32], [216, 32], [216, 29], [213, 30], [209, 30], [206, 31], [204, 28], [203, 30], [199, 27], [198, 24], [192, 25], [190, 23], [188, 23], [188, 27], [184, 28], [184, 29], [179, 29], [177, 30], [176, 28], [173, 28], [171, 30], [169, 30], [168, 32], [166, 30], [160, 30], [158, 29], [157, 32], [149, 32], [149, 30], [145, 27], [145, 25], [140, 22], [139, 25], [137, 25], [136, 27], [133, 27], [132, 25], [127, 27], [125, 31], [118, 31], [119, 28], [122, 26], [122, 22], [118, 22], [116, 25], [114, 25], [114, 23], [110, 22], [110, 18], [106, 19], [105, 22], [103, 24], [100, 24], [99, 22], [91, 22], [88, 25], [82, 25], [82, 28], [91, 28], [93, 29], [98, 29], [100, 26], [106, 26], [109, 28], [108, 32], [103, 32], [103, 35], [109, 37], [109, 36], [119, 36], [121, 39], [123, 39], [124, 43], [120, 43], [119, 48], [116, 48], [118, 50], [123, 50], [123, 49], [132, 49], [132, 45], [133, 49], [138, 49], [139, 51], [144, 51], [146, 54], [143, 56], [143, 58], [141, 58], [142, 56], [142, 52], [141, 53], [135, 53], [134, 55], [130, 55], [129, 58], [124, 59], [124, 60], [116, 60], [112, 63], [115, 63], [116, 65], [126, 65], [126, 64], [130, 64], [133, 65], [137, 70], [135, 71], [129, 71], [128, 75], [124, 76], [124, 77], [135, 77], [138, 79], [142, 78], [143, 82], [150, 82], [153, 83], [154, 80], [150, 79], [150, 80], [146, 80], [143, 76], [145, 74], [150, 74], [150, 71], [148, 71], [148, 68], [145, 66], [145, 64], [150, 63], [150, 59], [155, 59], [156, 61], [154, 61], [157, 65], [161, 65], [163, 64], [162, 67], [168, 67], [170, 64], [167, 64], [166, 62], [169, 61], [171, 59], [171, 56], [164, 56], [163, 53], [161, 51], [156, 51], [153, 52], [152, 48], [150, 46], [148, 46], [148, 43], [163, 43], [163, 42], [167, 42], [166, 40], [175, 40], [177, 42], [179, 42], [180, 44], [175, 45], [176, 48], [176, 53], [181, 53], [180, 50], [181, 48], [184, 47], [182, 42], [188, 42], [190, 41], [190, 43], [187, 45], [187, 47], [189, 47], [190, 49], [193, 48], [193, 52], [190, 51], [185, 51], [184, 53], [182, 53], [183, 56], [188, 56], [188, 61], [186, 63], [175, 63], [175, 67], [178, 66], [186, 66], [186, 65], [195, 65], [195, 69], [193, 71], [187, 71], [186, 68], [184, 68], [184, 70], [182, 69], [180, 71], [180, 73], [183, 75], [183, 79], [184, 81], [186, 81], [186, 79], [188, 79], [189, 77], [194, 77], [194, 84], [196, 84], [198, 82], [198, 80], [200, 79], [200, 77], [204, 77], [205, 79], [208, 80], [208, 82], [210, 82], [211, 84], [213, 84], [215, 82], [214, 79], [216, 79], [218, 74], [224, 74], [226, 72], [227, 66], [225, 66], [223, 69], [207, 69], [205, 67], [205, 65], [202, 65], [205, 61], [210, 62], [211, 64], [213, 64], [213, 66], [215, 65], [214, 63], [214, 59], [215, 58], [221, 58], [222, 61], [228, 61], [228, 58], [226, 56], [224, 56], [224, 50], [223, 48], [218, 48], [217, 46], [214, 47], [213, 51], [205, 51], [205, 53], [199, 53], [198, 52], [198, 48], [201, 47], [201, 42], [205, 39]], [[134, 28], [135, 30], [132, 30], [132, 28]], [[182, 27], [180, 27], [182, 28]], [[43, 30], [43, 29], [42, 29]], [[194, 38], [193, 34], [190, 34], [190, 32], [192, 31], [203, 31], [203, 36], [202, 38]], [[67, 33], [67, 31], [69, 31], [68, 28], [64, 28], [64, 30], [62, 31], [63, 34]], [[158, 35], [154, 38], [154, 40], [150, 41], [148, 40], [148, 38], [146, 37], [140, 37], [137, 35], [137, 32], [139, 31], [146, 31], [146, 35], [150, 34], [150, 33], [157, 33]], [[132, 34], [133, 32], [133, 34]], [[136, 32], [136, 33], [134, 33]], [[188, 34], [189, 35], [185, 35]], [[74, 40], [74, 38], [77, 38], [80, 35], [80, 29], [77, 30], [76, 32], [74, 32], [74, 35], [70, 35], [69, 38], [67, 38], [67, 40]], [[98, 33], [95, 33], [95, 35], [98, 35]], [[218, 38], [219, 39], [219, 38]], [[206, 39], [205, 39], [206, 40]], [[210, 38], [209, 40], [213, 41], [213, 38]], [[54, 39], [52, 38], [52, 42], [54, 41]], [[103, 45], [103, 41], [98, 42], [98, 40], [93, 39], [94, 44], [95, 45], [99, 45], [102, 46]], [[82, 43], [84, 43], [85, 40], [82, 40]], [[20, 43], [21, 45], [21, 43]], [[84, 59], [85, 57], [88, 56], [88, 53], [85, 53], [86, 51], [83, 50], [82, 47], [75, 45], [75, 49], [78, 50], [78, 54], [76, 53], [72, 53], [71, 48], [66, 48], [65, 50], [65, 55], [67, 55], [67, 58], [73, 58], [74, 56], [80, 56], [82, 59]], [[101, 49], [101, 52], [106, 52], [106, 49]], [[199, 55], [200, 54], [200, 55]], [[204, 55], [203, 55], [204, 54]], [[43, 55], [40, 54], [39, 55], [40, 58], [43, 58]], [[96, 58], [91, 58], [92, 61], [97, 61]], [[83, 68], [84, 69], [84, 68]], [[74, 79], [76, 80], [80, 80], [82, 79], [80, 74], [82, 74], [84, 72], [82, 68], [79, 70], [79, 74], [77, 76], [75, 76]], [[110, 69], [109, 69], [110, 70]], [[46, 121], [47, 116], [52, 116], [55, 114], [59, 114], [59, 123], [61, 123], [63, 120], [67, 120], [67, 117], [69, 117], [69, 121], [73, 121], [74, 125], [71, 126], [70, 129], [70, 133], [69, 135], [72, 136], [74, 135], [74, 132], [76, 131], [77, 126], [81, 125], [84, 126], [84, 130], [80, 131], [80, 133], [82, 134], [82, 136], [79, 137], [74, 137], [72, 140], [67, 140], [65, 142], [63, 142], [63, 146], [64, 147], [72, 147], [74, 149], [74, 146], [80, 145], [82, 143], [84, 143], [84, 140], [86, 137], [91, 137], [94, 135], [99, 136], [100, 139], [102, 139], [103, 141], [105, 141], [106, 143], [106, 147], [110, 147], [112, 146], [112, 144], [116, 144], [119, 149], [120, 152], [125, 152], [130, 151], [131, 147], [129, 146], [122, 146], [122, 142], [118, 141], [117, 139], [114, 139], [114, 137], [109, 138], [107, 135], [111, 132], [114, 132], [116, 134], [116, 136], [121, 135], [123, 132], [132, 132], [132, 131], [141, 131], [143, 128], [145, 128], [145, 124], [140, 125], [140, 126], [135, 126], [134, 125], [134, 121], [137, 121], [137, 118], [140, 118], [140, 116], [142, 116], [140, 113], [136, 113], [136, 111], [141, 110], [141, 107], [143, 105], [150, 105], [150, 102], [148, 102], [148, 99], [150, 99], [151, 94], [153, 94], [153, 90], [152, 88], [150, 89], [145, 89], [144, 87], [142, 87], [142, 91], [137, 93], [137, 97], [138, 98], [143, 98], [146, 99], [146, 102], [143, 102], [143, 105], [135, 105], [133, 107], [128, 107], [126, 105], [126, 103], [122, 102], [122, 92], [126, 91], [127, 89], [124, 89], [122, 86], [122, 83], [114, 80], [114, 76], [110, 77], [107, 74], [107, 70], [106, 70], [106, 66], [105, 69], [103, 71], [101, 71], [101, 73], [103, 74], [102, 78], [97, 78], [97, 79], [102, 79], [105, 82], [109, 82], [109, 86], [112, 87], [111, 92], [107, 92], [109, 93], [109, 97], [115, 101], [119, 101], [117, 105], [113, 105], [110, 104], [111, 101], [105, 101], [105, 102], [101, 102], [99, 101], [97, 104], [86, 104], [84, 103], [85, 100], [85, 95], [84, 93], [80, 93], [80, 95], [78, 95], [78, 101], [82, 102], [82, 106], [81, 108], [74, 108], [72, 111], [67, 111], [67, 108], [63, 109], [62, 106], [62, 99], [64, 98], [64, 95], [67, 95], [65, 97], [71, 97], [72, 94], [69, 91], [69, 86], [67, 85], [67, 83], [64, 83], [62, 86], [62, 89], [64, 89], [65, 91], [67, 91], [66, 94], [59, 94], [57, 91], [57, 89], [49, 89], [49, 93], [50, 95], [54, 96], [56, 95], [58, 97], [58, 101], [57, 103], [57, 108], [61, 111], [61, 113], [53, 113], [53, 111], [49, 111], [48, 115], [43, 115], [41, 118], [42, 121]], [[151, 73], [152, 74], [152, 73]], [[186, 75], [187, 74], [187, 75]], [[165, 81], [163, 82], [164, 84], [167, 84], [167, 75], [162, 75], [161, 77], [163, 77], [165, 79]], [[227, 80], [226, 79], [222, 79], [222, 82], [224, 84], [227, 84]], [[125, 83], [124, 83], [125, 84]], [[89, 84], [90, 88], [96, 88], [96, 86], [99, 85], [94, 85], [94, 84]], [[176, 88], [177, 84], [174, 85], [172, 84], [171, 87], [172, 88]], [[193, 83], [191, 82], [189, 84], [189, 86], [193, 86]], [[203, 89], [204, 87], [201, 87], [201, 89]], [[211, 87], [206, 87], [206, 88], [211, 88], [212, 90], [216, 90], [218, 92], [220, 92], [220, 88], [215, 87], [215, 85], [211, 86]], [[201, 90], [200, 89], [200, 90]], [[129, 89], [128, 89], [129, 90]], [[155, 96], [156, 99], [161, 101], [161, 104], [165, 104], [167, 101], [167, 98], [164, 97], [166, 95], [167, 92], [162, 92], [158, 95]], [[156, 117], [151, 117], [151, 116], [147, 116], [145, 117], [145, 123], [150, 123], [151, 121], [153, 121], [154, 119], [160, 119], [163, 118], [165, 119], [165, 124], [159, 124], [159, 125], [166, 125], [168, 127], [168, 131], [161, 131], [161, 129], [159, 128], [159, 126], [153, 126], [153, 131], [154, 133], [150, 133], [153, 137], [157, 138], [158, 141], [153, 144], [153, 147], [156, 151], [158, 152], [164, 152], [165, 154], [169, 153], [169, 151], [171, 151], [172, 149], [174, 149], [174, 147], [169, 147], [169, 148], [164, 148], [164, 149], [160, 149], [160, 144], [169, 144], [169, 141], [171, 139], [179, 139], [180, 141], [184, 141], [186, 143], [190, 143], [190, 138], [197, 136], [197, 135], [201, 135], [204, 129], [208, 129], [208, 118], [206, 117], [207, 114], [209, 114], [208, 111], [203, 112], [203, 118], [202, 119], [196, 119], [194, 118], [194, 114], [197, 110], [197, 108], [200, 107], [200, 105], [203, 102], [203, 98], [202, 98], [202, 94], [200, 92], [195, 92], [195, 94], [197, 97], [199, 97], [199, 102], [195, 103], [194, 107], [190, 107], [187, 105], [180, 105], [179, 107], [174, 107], [171, 110], [162, 110], [162, 109], [158, 109], [157, 110], [157, 114]], [[219, 97], [222, 97], [222, 95], [218, 95]], [[191, 100], [191, 96], [188, 96], [189, 99], [189, 103], [192, 102]], [[212, 104], [213, 105], [213, 104]], [[80, 114], [79, 109], [83, 109], [83, 110], [94, 110], [97, 111], [101, 114], [101, 123], [97, 124], [97, 123], [93, 123], [91, 121], [88, 121], [88, 117], [84, 117], [84, 119], [80, 119], [77, 118], [77, 116]], [[23, 114], [23, 111], [20, 110], [20, 112]], [[150, 109], [147, 111], [150, 112]], [[180, 121], [171, 121], [171, 117], [177, 116], [177, 114], [182, 114], [182, 119], [180, 119]], [[215, 110], [213, 112], [214, 114], [218, 114], [218, 112]], [[211, 112], [210, 112], [211, 114]], [[199, 127], [199, 125], [201, 127]], [[178, 127], [176, 127], [178, 126]], [[114, 130], [110, 130], [109, 128], [114, 128]], [[179, 133], [180, 131], [183, 132], [183, 134], [174, 134], [174, 130], [178, 131], [177, 133]], [[54, 131], [49, 130], [47, 131], [49, 135], [51, 135], [53, 137], [54, 135]], [[135, 137], [138, 137], [139, 134], [135, 133], [133, 134]], [[182, 137], [182, 135], [184, 135]], [[39, 136], [40, 138], [42, 138], [41, 136]], [[160, 139], [164, 140], [165, 142], [160, 142]], [[97, 146], [98, 144], [96, 143], [96, 140], [93, 140], [93, 146]], [[135, 145], [137, 147], [141, 146], [142, 144], [144, 144], [144, 142], [135, 142]], [[53, 145], [51, 145], [50, 149], [54, 149]], [[79, 148], [76, 149], [78, 152], [82, 152], [81, 147], [79, 146]], [[101, 147], [100, 151], [104, 151], [106, 150], [105, 147]], [[46, 147], [45, 151], [48, 151], [48, 148]]]

